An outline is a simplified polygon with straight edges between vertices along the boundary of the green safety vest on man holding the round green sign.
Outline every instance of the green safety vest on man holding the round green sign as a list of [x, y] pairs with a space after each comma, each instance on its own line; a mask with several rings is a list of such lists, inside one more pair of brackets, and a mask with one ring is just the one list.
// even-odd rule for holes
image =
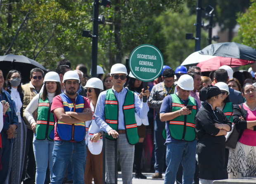
[[[112, 89], [107, 90], [105, 98], [105, 122], [114, 130], [118, 131], [118, 112], [119, 102]], [[124, 124], [126, 127], [126, 137], [129, 144], [136, 144], [139, 142], [139, 135], [137, 132], [137, 123], [135, 120], [135, 109], [134, 109], [134, 93], [133, 91], [127, 90], [125, 102], [123, 103], [123, 116]], [[123, 121], [123, 120], [121, 120]], [[112, 135], [106, 135], [107, 139], [115, 140]]]

